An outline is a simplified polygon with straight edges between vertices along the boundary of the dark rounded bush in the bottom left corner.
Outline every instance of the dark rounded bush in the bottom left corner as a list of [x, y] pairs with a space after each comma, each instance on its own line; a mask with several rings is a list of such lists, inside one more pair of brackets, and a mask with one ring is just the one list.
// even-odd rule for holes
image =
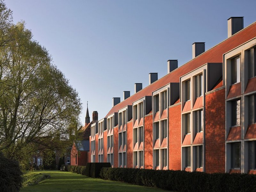
[[0, 191], [19, 191], [22, 186], [21, 176], [19, 163], [4, 157], [0, 152]]

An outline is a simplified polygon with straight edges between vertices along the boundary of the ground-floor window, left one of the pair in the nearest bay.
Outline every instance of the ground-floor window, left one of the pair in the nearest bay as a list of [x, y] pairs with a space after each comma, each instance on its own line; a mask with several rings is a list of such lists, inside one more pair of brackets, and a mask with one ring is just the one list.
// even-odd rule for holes
[[240, 169], [241, 157], [241, 143], [231, 143], [231, 168]]

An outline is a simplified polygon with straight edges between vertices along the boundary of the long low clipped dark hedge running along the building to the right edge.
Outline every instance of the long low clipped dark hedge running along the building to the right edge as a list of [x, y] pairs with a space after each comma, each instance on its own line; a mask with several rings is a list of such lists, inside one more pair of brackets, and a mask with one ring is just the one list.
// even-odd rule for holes
[[181, 192], [255, 191], [256, 175], [240, 173], [205, 173], [132, 168], [102, 168], [100, 177], [135, 185]]

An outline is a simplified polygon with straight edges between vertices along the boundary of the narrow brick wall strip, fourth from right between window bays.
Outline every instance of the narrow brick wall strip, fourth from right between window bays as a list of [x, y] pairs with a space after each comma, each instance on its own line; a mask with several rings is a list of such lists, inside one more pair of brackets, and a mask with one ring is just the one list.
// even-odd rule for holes
[[126, 141], [126, 167], [132, 168], [132, 159], [133, 159], [133, 141], [132, 141], [132, 131], [133, 131], [133, 125], [132, 121], [127, 123], [126, 127], [126, 136], [127, 136], [127, 141]]

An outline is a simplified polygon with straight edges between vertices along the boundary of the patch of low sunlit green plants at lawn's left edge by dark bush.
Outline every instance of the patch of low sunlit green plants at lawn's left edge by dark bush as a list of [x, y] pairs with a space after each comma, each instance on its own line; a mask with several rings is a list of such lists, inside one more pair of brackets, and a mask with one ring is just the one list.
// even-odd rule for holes
[[42, 180], [49, 179], [50, 177], [51, 175], [49, 174], [41, 174], [39, 172], [27, 172], [23, 175], [22, 187], [36, 185]]

